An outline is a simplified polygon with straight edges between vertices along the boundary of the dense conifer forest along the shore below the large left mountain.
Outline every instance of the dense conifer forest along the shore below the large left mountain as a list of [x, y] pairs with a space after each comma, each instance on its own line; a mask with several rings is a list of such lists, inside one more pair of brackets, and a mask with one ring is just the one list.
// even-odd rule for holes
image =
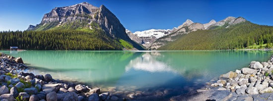
[[0, 49], [24, 50], [122, 50], [119, 40], [103, 30], [46, 30], [0, 32]]

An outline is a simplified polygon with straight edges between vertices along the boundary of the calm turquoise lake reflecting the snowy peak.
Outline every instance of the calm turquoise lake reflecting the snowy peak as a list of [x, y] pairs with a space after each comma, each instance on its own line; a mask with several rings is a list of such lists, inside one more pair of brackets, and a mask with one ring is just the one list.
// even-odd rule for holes
[[[20, 56], [36, 74], [128, 92], [150, 92], [169, 98], [203, 87], [229, 71], [247, 67], [253, 60], [267, 61], [272, 51], [1, 51]], [[146, 94], [145, 94], [146, 93]], [[123, 95], [123, 96], [124, 96]], [[156, 96], [157, 97], [157, 96]]]

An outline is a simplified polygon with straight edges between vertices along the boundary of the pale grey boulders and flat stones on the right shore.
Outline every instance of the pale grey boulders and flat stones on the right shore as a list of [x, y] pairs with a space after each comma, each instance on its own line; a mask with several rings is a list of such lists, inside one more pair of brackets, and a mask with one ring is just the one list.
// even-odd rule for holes
[[[216, 82], [215, 82], [216, 81]], [[249, 67], [230, 71], [195, 92], [170, 101], [268, 101], [273, 100], [273, 56], [267, 62], [252, 61]]]

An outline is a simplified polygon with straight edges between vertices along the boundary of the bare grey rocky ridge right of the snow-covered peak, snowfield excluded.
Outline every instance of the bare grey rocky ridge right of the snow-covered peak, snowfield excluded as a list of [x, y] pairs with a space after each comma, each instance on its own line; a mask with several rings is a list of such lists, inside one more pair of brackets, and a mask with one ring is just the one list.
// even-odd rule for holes
[[225, 28], [228, 28], [231, 25], [236, 25], [245, 21], [246, 19], [244, 19], [243, 17], [235, 18], [235, 17], [229, 16], [218, 22], [216, 22], [215, 20], [211, 20], [208, 23], [201, 24], [201, 23], [194, 23], [193, 21], [188, 19], [182, 25], [178, 26], [176, 30], [173, 30], [172, 33], [170, 33], [169, 35], [154, 41], [151, 47], [149, 48], [149, 50], [157, 50], [161, 46], [164, 46], [169, 42], [177, 40], [179, 36], [183, 34], [188, 34], [190, 32], [194, 32], [197, 30], [209, 30], [210, 28], [214, 26], [223, 26], [225, 24], [227, 24]]

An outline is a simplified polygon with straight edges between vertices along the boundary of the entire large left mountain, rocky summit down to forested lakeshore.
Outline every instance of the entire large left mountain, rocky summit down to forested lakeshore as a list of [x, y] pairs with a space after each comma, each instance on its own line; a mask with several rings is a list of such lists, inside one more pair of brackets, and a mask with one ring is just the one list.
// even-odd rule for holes
[[55, 7], [24, 32], [1, 32], [1, 48], [25, 50], [144, 50], [104, 5], [82, 2]]

